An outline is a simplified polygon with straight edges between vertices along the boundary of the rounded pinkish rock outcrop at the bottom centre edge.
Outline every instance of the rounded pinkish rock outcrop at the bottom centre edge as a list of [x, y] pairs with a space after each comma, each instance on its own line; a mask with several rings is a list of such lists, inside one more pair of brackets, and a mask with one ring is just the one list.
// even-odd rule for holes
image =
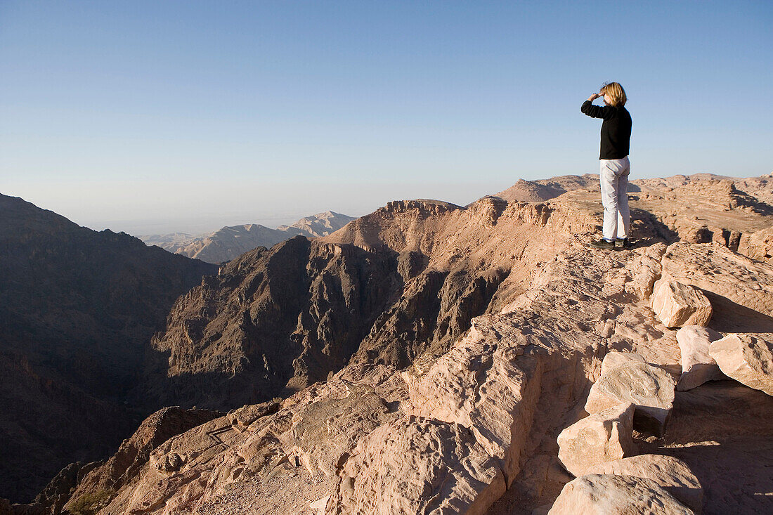
[[482, 514], [505, 488], [468, 428], [409, 415], [357, 444], [325, 513]]

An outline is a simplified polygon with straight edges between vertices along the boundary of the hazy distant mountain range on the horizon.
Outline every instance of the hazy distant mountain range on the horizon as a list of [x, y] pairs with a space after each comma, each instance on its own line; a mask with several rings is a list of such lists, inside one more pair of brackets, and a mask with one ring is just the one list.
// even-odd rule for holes
[[186, 233], [152, 234], [139, 238], [148, 245], [157, 245], [174, 254], [194, 257], [207, 263], [222, 263], [257, 247], [271, 248], [294, 236], [322, 237], [334, 233], [355, 220], [345, 214], [325, 211], [304, 217], [292, 225], [276, 229], [258, 223], [223, 227], [210, 234], [192, 236]]

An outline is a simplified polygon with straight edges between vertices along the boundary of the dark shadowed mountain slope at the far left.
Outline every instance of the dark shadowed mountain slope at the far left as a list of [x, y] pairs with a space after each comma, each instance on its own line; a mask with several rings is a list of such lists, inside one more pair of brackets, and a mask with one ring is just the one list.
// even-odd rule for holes
[[0, 496], [31, 500], [114, 452], [124, 404], [172, 303], [217, 268], [0, 195]]

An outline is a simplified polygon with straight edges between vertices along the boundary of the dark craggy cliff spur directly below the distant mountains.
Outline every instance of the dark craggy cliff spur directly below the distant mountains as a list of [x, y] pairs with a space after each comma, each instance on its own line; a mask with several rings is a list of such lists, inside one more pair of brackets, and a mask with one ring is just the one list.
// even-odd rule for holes
[[179, 298], [135, 396], [224, 411], [324, 380], [401, 285], [388, 252], [305, 237], [257, 248]]

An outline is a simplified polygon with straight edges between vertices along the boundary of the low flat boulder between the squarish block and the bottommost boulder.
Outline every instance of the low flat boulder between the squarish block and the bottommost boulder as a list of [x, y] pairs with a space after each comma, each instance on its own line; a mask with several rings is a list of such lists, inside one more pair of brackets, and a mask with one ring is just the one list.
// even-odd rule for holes
[[603, 462], [587, 468], [588, 474], [615, 474], [651, 479], [695, 513], [703, 510], [703, 486], [685, 462], [673, 456], [645, 454]]

